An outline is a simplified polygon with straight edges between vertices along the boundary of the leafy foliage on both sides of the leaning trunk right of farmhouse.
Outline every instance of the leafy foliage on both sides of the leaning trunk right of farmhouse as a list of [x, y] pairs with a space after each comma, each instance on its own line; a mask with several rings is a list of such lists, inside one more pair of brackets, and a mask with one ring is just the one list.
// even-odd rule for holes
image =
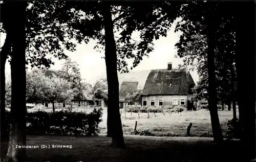
[[[210, 10], [221, 10], [225, 4], [215, 3], [210, 5], [208, 2], [189, 2], [184, 5], [181, 17], [178, 22], [176, 31], [181, 31], [180, 41], [175, 45], [178, 49], [178, 56], [183, 58], [183, 65], [180, 67], [190, 67], [190, 70], [197, 70], [200, 81], [194, 87], [193, 100], [208, 99], [208, 68], [207, 68], [207, 26], [208, 18], [211, 16]], [[207, 8], [207, 9], [208, 9]], [[202, 12], [204, 16], [198, 16], [196, 10]], [[194, 13], [195, 12], [195, 13]], [[217, 97], [219, 101], [230, 103], [231, 101], [231, 84], [236, 84], [236, 80], [232, 80], [230, 68], [234, 63], [234, 32], [230, 26], [232, 17], [220, 18], [216, 15], [219, 23], [216, 27], [216, 48], [215, 48], [215, 78], [217, 83]], [[176, 57], [178, 57], [176, 56]], [[233, 73], [236, 73], [235, 71]], [[236, 75], [236, 74], [234, 74]]]

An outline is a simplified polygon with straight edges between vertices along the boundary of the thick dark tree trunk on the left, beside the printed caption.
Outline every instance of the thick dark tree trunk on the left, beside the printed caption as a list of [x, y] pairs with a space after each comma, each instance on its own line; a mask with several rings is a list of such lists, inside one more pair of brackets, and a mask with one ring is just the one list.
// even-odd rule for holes
[[[26, 7], [27, 2], [13, 2], [11, 19], [15, 29], [12, 39], [11, 60], [11, 127], [6, 161], [26, 161], [26, 149], [16, 148], [26, 146]], [[17, 79], [18, 78], [18, 79]]]

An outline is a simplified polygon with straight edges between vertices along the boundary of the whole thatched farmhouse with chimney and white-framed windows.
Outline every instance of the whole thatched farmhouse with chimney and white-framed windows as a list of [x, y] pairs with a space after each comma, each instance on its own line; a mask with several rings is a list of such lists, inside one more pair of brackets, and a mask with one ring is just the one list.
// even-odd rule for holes
[[189, 71], [172, 68], [172, 63], [167, 67], [148, 74], [141, 96], [143, 106], [181, 105], [187, 108], [190, 104], [187, 100], [193, 94], [191, 88], [195, 82]]

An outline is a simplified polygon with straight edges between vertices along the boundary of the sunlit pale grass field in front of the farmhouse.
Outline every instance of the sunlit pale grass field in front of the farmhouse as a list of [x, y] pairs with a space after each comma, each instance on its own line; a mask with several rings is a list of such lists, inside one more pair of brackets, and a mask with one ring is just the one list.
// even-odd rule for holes
[[[121, 110], [120, 110], [121, 111]], [[227, 121], [232, 119], [232, 111], [218, 111], [221, 123], [222, 133], [225, 136], [228, 131]], [[101, 133], [106, 132], [106, 110], [103, 110], [102, 122], [100, 123]], [[237, 111], [238, 114], [238, 111]], [[157, 136], [184, 136], [187, 126], [192, 123], [190, 134], [192, 136], [212, 136], [210, 112], [208, 110], [187, 111], [181, 113], [169, 114], [165, 112], [150, 113], [150, 118], [147, 119], [147, 113], [126, 112], [126, 120], [124, 118], [124, 110], [121, 112], [123, 132], [128, 134], [134, 130], [135, 122], [137, 121], [137, 130], [149, 129]]]

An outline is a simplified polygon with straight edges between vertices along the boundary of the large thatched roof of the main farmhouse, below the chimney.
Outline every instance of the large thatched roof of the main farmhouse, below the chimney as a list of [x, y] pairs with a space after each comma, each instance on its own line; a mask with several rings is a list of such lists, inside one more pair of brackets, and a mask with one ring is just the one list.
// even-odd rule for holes
[[195, 86], [186, 69], [152, 70], [148, 74], [143, 95], [188, 95]]

